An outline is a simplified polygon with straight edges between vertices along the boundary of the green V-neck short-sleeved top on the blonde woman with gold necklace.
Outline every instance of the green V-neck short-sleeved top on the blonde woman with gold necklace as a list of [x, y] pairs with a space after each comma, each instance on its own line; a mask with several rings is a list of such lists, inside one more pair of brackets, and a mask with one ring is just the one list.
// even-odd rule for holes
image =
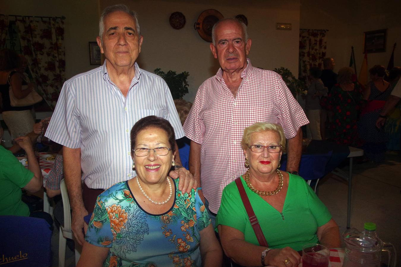
[[[299, 251], [318, 243], [317, 228], [331, 219], [326, 206], [302, 177], [290, 174], [286, 200], [280, 213], [241, 182], [270, 248], [292, 247]], [[223, 190], [216, 226], [227, 225], [244, 233], [245, 241], [259, 245], [235, 182]]]

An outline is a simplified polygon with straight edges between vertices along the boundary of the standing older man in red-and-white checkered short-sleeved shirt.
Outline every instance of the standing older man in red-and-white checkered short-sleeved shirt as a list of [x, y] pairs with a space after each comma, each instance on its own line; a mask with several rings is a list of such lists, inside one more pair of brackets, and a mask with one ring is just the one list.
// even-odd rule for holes
[[300, 127], [309, 121], [282, 77], [253, 67], [246, 58], [251, 39], [245, 24], [220, 20], [212, 35], [210, 48], [221, 68], [199, 88], [184, 131], [191, 140], [189, 168], [202, 186], [199, 195], [216, 214], [224, 187], [246, 171], [244, 128], [255, 122], [280, 124], [288, 139], [287, 171], [296, 172], [302, 150]]

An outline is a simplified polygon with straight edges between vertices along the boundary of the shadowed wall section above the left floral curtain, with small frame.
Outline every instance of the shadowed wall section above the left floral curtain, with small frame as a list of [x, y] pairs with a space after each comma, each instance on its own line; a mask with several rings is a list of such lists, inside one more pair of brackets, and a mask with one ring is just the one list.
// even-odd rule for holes
[[22, 16], [65, 16], [66, 78], [90, 70], [89, 44], [98, 35], [98, 0], [4, 0], [1, 14]]

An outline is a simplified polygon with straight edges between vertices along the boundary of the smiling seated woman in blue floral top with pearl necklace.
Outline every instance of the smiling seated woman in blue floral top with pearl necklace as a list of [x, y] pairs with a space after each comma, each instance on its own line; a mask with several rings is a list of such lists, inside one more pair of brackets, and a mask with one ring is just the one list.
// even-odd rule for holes
[[156, 116], [131, 130], [137, 176], [106, 189], [95, 203], [78, 266], [221, 266], [222, 251], [205, 205], [167, 176], [174, 129]]

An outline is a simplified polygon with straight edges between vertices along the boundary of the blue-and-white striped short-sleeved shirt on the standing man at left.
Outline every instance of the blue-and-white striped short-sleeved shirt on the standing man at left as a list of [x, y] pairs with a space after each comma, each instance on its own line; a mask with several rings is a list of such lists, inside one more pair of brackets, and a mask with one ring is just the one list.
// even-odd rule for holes
[[61, 90], [46, 136], [69, 148], [81, 148], [82, 179], [89, 188], [107, 189], [136, 175], [132, 170], [130, 131], [139, 119], [156, 115], [184, 136], [166, 82], [141, 70], [126, 97], [103, 66], [67, 80]]

